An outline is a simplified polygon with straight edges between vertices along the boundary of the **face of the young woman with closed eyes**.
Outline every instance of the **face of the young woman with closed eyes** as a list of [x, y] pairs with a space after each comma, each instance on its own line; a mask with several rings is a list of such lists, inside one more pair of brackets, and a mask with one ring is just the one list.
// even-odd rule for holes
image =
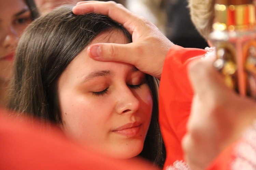
[[[123, 33], [98, 35], [98, 42], [127, 43]], [[58, 81], [64, 131], [85, 146], [110, 157], [137, 156], [151, 120], [152, 95], [145, 74], [121, 62], [77, 55]]]

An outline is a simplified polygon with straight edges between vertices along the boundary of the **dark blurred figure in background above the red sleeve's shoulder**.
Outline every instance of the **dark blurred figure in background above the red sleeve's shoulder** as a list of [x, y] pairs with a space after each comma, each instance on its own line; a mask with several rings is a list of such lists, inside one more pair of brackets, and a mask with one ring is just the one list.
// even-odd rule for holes
[[174, 44], [187, 48], [208, 47], [190, 19], [187, 0], [163, 0], [167, 13], [165, 35]]

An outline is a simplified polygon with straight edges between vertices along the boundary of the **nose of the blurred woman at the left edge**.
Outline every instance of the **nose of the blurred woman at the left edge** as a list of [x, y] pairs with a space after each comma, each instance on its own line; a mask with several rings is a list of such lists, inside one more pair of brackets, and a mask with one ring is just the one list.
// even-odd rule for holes
[[13, 27], [8, 27], [2, 39], [2, 46], [10, 50], [14, 50], [18, 44], [19, 35]]

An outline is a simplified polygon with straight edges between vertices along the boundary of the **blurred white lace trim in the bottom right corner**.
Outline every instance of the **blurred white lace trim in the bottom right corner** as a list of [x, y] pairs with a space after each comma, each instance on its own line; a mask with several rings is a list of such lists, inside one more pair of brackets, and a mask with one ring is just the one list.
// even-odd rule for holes
[[235, 156], [232, 170], [255, 170], [256, 169], [256, 121], [241, 139], [235, 148]]

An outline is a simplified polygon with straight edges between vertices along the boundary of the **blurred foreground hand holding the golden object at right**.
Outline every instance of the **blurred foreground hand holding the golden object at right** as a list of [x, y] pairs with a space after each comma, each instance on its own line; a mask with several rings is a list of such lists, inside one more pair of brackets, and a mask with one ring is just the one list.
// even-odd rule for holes
[[256, 117], [256, 105], [228, 88], [212, 61], [191, 63], [188, 71], [195, 96], [183, 149], [190, 166], [205, 168], [241, 137]]

